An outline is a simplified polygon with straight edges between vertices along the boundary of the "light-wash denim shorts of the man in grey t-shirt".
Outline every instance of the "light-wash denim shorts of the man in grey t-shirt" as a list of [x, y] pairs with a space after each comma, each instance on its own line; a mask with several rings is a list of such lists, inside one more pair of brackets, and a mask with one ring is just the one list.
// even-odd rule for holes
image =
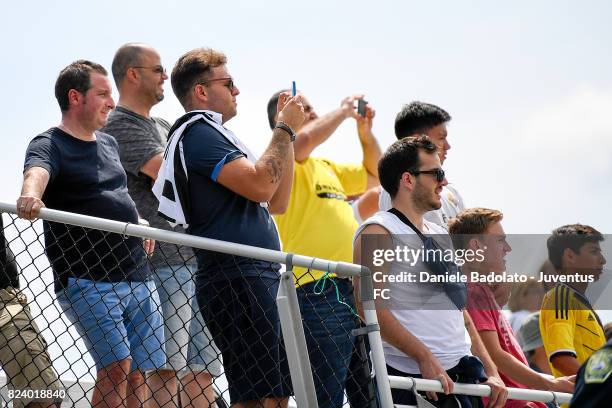
[[221, 352], [212, 340], [195, 297], [195, 265], [170, 265], [153, 273], [164, 317], [167, 369], [223, 373]]

